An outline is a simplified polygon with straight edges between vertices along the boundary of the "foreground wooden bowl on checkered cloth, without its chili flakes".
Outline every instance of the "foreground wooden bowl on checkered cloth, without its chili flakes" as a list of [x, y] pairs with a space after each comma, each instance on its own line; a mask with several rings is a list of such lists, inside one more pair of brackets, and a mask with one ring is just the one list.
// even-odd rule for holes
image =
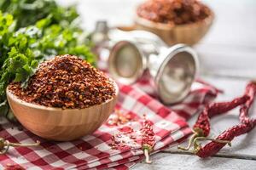
[[44, 139], [68, 141], [96, 131], [113, 112], [119, 89], [115, 84], [113, 99], [84, 109], [46, 107], [18, 99], [7, 88], [9, 105], [19, 122]]

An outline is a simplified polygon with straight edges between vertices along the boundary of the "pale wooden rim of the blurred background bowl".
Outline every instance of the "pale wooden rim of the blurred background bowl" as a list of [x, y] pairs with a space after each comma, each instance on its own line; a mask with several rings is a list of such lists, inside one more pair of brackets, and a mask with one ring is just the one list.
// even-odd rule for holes
[[[209, 8], [209, 7], [208, 7]], [[138, 25], [143, 25], [143, 26], [148, 26], [148, 27], [155, 27], [157, 29], [160, 30], [172, 30], [173, 28], [183, 28], [183, 27], [187, 27], [187, 26], [198, 26], [198, 25], [210, 25], [212, 23], [212, 21], [215, 18], [215, 14], [213, 13], [212, 9], [210, 9], [210, 14], [207, 16], [207, 18], [205, 18], [204, 20], [199, 20], [197, 22], [194, 23], [189, 23], [189, 24], [183, 24], [183, 25], [169, 25], [169, 24], [165, 24], [165, 23], [161, 23], [161, 22], [154, 22], [152, 20], [147, 20], [144, 19], [143, 17], [140, 17], [136, 14], [135, 17], [135, 23]]]

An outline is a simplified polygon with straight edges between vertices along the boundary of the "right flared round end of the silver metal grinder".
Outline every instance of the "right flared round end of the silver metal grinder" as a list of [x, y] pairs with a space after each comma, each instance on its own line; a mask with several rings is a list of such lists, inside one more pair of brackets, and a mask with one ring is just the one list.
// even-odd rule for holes
[[199, 68], [197, 54], [189, 46], [177, 44], [160, 55], [159, 65], [149, 61], [149, 71], [154, 77], [156, 90], [165, 104], [180, 102], [189, 94], [195, 81]]

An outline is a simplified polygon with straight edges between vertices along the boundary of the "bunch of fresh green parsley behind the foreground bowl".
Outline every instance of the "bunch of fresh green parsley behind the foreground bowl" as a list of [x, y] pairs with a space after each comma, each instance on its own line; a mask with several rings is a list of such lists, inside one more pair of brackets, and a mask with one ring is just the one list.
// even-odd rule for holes
[[74, 8], [53, 0], [3, 0], [0, 9], [0, 115], [13, 119], [5, 92], [9, 82], [26, 88], [38, 64], [58, 54], [74, 54], [93, 65], [96, 58], [76, 25]]

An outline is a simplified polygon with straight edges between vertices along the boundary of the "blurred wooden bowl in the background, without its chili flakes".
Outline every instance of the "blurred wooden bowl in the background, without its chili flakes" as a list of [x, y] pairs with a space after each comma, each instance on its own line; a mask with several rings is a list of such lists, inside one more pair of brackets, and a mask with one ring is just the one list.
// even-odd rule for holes
[[135, 19], [135, 26], [138, 30], [153, 32], [161, 37], [170, 46], [176, 43], [194, 45], [207, 34], [207, 31], [212, 26], [213, 19], [214, 14], [211, 12], [211, 14], [205, 20], [192, 24], [170, 26], [167, 24], [146, 20], [137, 16]]

